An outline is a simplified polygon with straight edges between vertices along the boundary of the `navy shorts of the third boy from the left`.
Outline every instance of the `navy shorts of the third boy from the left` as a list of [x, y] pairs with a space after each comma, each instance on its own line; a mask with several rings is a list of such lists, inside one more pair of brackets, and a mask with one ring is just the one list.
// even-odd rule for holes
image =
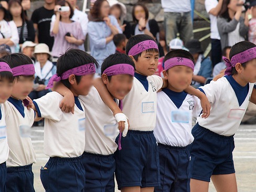
[[82, 165], [81, 156], [50, 157], [45, 167], [47, 169], [40, 169], [40, 178], [47, 192], [84, 191], [86, 171]]

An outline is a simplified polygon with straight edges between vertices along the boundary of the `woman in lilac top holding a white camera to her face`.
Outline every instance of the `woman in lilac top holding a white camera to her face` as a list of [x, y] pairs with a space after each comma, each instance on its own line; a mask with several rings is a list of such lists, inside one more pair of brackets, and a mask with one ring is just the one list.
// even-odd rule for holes
[[60, 1], [55, 6], [56, 20], [51, 23], [50, 35], [54, 37], [52, 56], [60, 57], [69, 48], [79, 48], [84, 42], [81, 24], [71, 20], [73, 8], [67, 1]]

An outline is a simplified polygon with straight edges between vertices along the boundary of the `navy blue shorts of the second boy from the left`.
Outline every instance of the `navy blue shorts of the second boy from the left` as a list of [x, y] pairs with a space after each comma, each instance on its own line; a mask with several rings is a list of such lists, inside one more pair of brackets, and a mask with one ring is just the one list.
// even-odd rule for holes
[[6, 191], [35, 191], [32, 164], [19, 167], [7, 167]]

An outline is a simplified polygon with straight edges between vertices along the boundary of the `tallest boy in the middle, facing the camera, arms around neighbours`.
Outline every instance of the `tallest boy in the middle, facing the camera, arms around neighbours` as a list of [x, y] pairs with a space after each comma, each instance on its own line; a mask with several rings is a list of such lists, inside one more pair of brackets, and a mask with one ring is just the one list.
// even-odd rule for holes
[[[115, 176], [121, 191], [154, 191], [154, 187], [160, 185], [158, 148], [153, 134], [156, 123], [156, 93], [167, 87], [167, 81], [153, 76], [159, 52], [152, 37], [131, 37], [125, 51], [133, 59], [136, 71], [133, 87], [123, 100], [123, 111], [130, 119], [130, 129], [126, 137], [116, 138], [116, 143], [121, 140], [122, 150], [115, 153]], [[108, 91], [103, 86], [100, 87], [98, 91], [103, 101], [114, 114], [121, 113], [118, 105], [109, 97]], [[190, 89], [190, 92], [193, 91], [195, 94], [199, 92]], [[202, 93], [199, 95], [205, 97]], [[205, 113], [204, 116], [206, 115]]]

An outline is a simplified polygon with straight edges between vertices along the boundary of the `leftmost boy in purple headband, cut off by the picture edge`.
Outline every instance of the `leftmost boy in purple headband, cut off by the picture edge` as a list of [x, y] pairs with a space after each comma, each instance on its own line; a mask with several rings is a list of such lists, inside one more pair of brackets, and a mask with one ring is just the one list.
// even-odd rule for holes
[[3, 103], [7, 101], [12, 93], [13, 81], [12, 69], [3, 59], [0, 59], [0, 191], [3, 192], [6, 191], [6, 161], [9, 154]]

